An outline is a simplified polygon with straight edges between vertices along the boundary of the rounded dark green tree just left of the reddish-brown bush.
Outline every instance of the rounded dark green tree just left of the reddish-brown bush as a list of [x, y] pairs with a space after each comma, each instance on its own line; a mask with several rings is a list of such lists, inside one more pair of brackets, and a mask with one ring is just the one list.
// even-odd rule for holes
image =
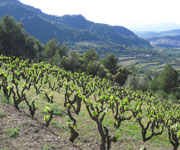
[[115, 74], [117, 69], [118, 58], [114, 54], [108, 54], [102, 59], [102, 63], [110, 73]]

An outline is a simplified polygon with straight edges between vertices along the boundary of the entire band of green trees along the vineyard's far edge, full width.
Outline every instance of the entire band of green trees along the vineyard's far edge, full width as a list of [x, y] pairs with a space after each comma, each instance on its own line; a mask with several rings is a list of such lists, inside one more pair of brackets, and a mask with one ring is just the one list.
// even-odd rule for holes
[[126, 84], [133, 90], [150, 90], [166, 98], [180, 98], [179, 73], [169, 64], [153, 78], [138, 76], [134, 66], [129, 69], [118, 66], [118, 58], [112, 53], [101, 58], [95, 49], [90, 48], [81, 54], [77, 50], [68, 50], [65, 44], [60, 45], [55, 38], [43, 45], [26, 33], [21, 22], [8, 15], [0, 19], [0, 54], [47, 61], [68, 71], [112, 79], [119, 85]]

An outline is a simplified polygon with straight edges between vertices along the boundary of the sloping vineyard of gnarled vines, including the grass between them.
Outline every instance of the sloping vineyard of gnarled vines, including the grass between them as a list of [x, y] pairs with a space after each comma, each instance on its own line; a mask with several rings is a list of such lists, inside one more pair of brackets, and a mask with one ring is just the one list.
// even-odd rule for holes
[[[179, 147], [179, 104], [106, 79], [0, 56], [0, 95], [47, 132], [68, 138], [76, 149]], [[136, 147], [130, 145], [133, 140]]]

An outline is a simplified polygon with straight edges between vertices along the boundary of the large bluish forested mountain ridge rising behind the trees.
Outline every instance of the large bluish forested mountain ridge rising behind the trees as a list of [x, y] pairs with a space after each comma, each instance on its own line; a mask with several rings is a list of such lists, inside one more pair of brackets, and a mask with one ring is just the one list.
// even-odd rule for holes
[[[46, 15], [18, 0], [0, 0], [0, 10], [0, 17], [8, 14], [23, 22], [25, 30], [44, 44], [55, 37], [60, 43], [66, 42], [72, 49], [87, 49], [89, 46], [102, 49], [102, 45], [106, 47], [110, 44], [124, 50], [134, 46], [151, 47], [149, 42], [122, 26], [94, 23], [81, 15]], [[110, 49], [117, 48], [111, 46]]]

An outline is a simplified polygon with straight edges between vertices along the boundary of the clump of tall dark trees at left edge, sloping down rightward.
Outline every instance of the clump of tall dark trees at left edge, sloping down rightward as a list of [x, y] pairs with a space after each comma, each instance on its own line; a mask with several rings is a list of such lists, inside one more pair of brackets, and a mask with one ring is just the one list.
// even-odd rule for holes
[[0, 53], [21, 58], [39, 58], [41, 43], [29, 36], [21, 22], [5, 15], [0, 19]]

